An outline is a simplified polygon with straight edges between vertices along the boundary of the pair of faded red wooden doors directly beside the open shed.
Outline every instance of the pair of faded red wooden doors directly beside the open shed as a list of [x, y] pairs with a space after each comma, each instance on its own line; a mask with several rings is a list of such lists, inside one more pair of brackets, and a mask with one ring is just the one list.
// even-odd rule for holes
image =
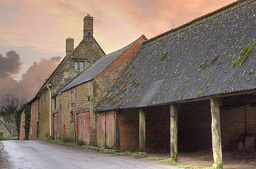
[[113, 148], [115, 143], [114, 111], [97, 113], [97, 146]]

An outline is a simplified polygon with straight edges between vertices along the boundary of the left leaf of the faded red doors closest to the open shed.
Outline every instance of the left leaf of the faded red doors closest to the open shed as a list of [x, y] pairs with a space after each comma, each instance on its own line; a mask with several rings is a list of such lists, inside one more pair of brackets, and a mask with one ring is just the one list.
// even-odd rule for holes
[[105, 146], [105, 113], [97, 113], [97, 146]]

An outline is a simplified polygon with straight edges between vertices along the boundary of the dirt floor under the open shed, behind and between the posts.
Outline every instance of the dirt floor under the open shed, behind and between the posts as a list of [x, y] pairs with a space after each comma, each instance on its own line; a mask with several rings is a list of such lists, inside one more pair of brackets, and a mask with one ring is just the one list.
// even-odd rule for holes
[[[223, 154], [223, 168], [256, 168], [256, 150], [236, 150], [224, 149]], [[147, 154], [150, 157], [157, 157], [161, 159], [170, 158], [170, 154]], [[178, 162], [176, 164], [193, 166], [201, 166], [202, 168], [209, 168], [214, 163], [212, 157], [212, 150], [200, 150], [193, 153], [178, 153]]]

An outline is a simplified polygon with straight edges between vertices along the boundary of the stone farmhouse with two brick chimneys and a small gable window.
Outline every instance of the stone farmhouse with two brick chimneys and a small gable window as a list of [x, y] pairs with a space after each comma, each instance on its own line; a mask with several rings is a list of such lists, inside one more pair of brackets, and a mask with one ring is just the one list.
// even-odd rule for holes
[[74, 49], [74, 39], [66, 39], [66, 56], [54, 72], [46, 79], [37, 92], [39, 97], [39, 137], [52, 136], [52, 96], [84, 69], [95, 63], [105, 53], [93, 37], [93, 17], [85, 16], [83, 20], [83, 39]]

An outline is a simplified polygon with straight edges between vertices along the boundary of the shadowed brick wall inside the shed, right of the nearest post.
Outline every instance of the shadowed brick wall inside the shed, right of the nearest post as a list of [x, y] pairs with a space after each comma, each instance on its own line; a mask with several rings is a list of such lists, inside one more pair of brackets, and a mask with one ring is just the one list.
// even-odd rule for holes
[[[247, 125], [244, 123], [245, 117]], [[237, 148], [236, 140], [240, 134], [244, 134], [245, 128], [248, 136], [256, 135], [255, 107], [247, 105], [241, 106], [240, 108], [221, 110], [220, 119], [223, 148]]]

